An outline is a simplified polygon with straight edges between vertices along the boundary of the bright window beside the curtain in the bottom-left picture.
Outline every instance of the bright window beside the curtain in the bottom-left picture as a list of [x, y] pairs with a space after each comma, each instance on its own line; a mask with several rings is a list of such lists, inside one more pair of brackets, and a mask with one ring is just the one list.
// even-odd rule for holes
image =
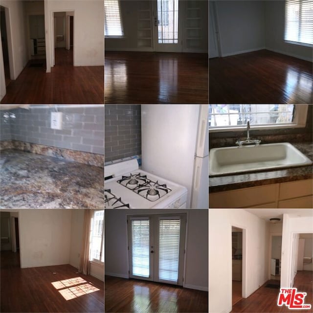
[[96, 210], [91, 219], [90, 261], [104, 262], [104, 210]]

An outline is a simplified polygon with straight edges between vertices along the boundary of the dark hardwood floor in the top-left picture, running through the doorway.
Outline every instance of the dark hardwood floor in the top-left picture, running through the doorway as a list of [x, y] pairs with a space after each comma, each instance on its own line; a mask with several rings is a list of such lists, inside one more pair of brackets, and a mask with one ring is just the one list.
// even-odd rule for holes
[[[104, 69], [73, 67], [73, 51], [55, 49], [55, 66], [46, 73], [45, 60], [31, 60], [6, 88], [2, 104], [103, 104]], [[32, 67], [34, 63], [41, 67]]]

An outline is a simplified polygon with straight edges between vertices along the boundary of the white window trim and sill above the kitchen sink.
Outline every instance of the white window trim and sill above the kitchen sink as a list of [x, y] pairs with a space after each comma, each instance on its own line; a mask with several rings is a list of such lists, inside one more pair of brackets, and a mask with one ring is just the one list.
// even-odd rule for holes
[[[269, 125], [253, 125], [250, 124], [250, 130], [269, 130], [269, 129], [288, 129], [288, 128], [305, 128], [307, 115], [308, 115], [308, 104], [295, 104], [295, 114], [293, 123], [286, 124], [269, 124]], [[210, 133], [220, 132], [240, 132], [245, 131], [246, 125], [238, 126], [221, 126], [221, 127], [209, 127]]]

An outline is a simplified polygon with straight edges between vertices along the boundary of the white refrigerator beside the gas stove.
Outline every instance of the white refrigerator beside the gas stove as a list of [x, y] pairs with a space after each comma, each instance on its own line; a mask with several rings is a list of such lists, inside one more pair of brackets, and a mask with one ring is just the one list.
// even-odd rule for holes
[[188, 189], [187, 208], [208, 208], [208, 105], [141, 105], [142, 169]]

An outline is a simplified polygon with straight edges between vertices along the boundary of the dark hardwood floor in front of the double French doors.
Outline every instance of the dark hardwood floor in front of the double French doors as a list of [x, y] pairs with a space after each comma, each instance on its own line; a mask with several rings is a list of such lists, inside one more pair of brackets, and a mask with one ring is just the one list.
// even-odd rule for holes
[[105, 276], [105, 312], [208, 312], [208, 292]]

